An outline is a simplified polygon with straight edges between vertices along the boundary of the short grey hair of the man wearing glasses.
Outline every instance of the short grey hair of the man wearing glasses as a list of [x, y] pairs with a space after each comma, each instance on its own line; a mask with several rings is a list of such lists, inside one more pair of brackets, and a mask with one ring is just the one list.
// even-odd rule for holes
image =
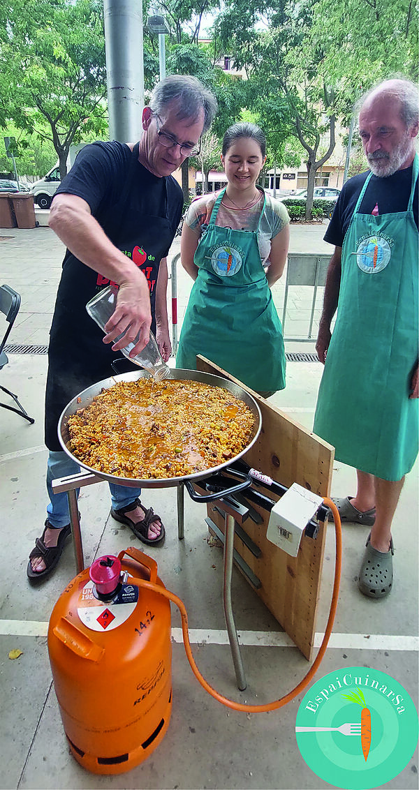
[[172, 102], [178, 103], [176, 118], [182, 121], [190, 118], [192, 122], [199, 119], [204, 111], [204, 128], [202, 134], [209, 129], [217, 112], [217, 99], [213, 93], [202, 85], [196, 77], [185, 74], [172, 74], [157, 82], [150, 96], [149, 107], [157, 115], [164, 116]]

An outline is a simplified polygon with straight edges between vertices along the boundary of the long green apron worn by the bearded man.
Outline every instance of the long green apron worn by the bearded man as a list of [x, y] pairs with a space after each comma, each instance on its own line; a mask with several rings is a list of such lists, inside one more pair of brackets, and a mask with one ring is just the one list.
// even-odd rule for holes
[[418, 450], [417, 227], [406, 212], [360, 214], [358, 198], [342, 246], [336, 324], [327, 351], [313, 431], [336, 459], [383, 480], [401, 480]]

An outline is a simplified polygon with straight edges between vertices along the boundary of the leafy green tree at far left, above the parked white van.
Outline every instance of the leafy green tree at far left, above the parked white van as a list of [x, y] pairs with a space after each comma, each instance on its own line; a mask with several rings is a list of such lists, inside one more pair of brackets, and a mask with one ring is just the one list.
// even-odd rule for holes
[[102, 3], [14, 0], [0, 19], [0, 122], [52, 141], [63, 178], [70, 145], [107, 130]]

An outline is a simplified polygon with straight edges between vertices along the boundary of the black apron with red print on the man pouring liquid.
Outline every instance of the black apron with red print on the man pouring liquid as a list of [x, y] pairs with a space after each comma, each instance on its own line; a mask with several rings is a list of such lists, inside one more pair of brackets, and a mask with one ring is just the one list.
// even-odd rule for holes
[[[135, 205], [137, 193], [131, 190], [138, 174], [138, 144], [134, 146], [123, 182], [123, 197], [100, 220], [111, 242], [145, 273], [149, 283], [152, 331], [156, 329], [155, 301], [160, 260], [172, 243], [172, 225], [168, 220], [168, 196], [164, 181], [164, 216], [144, 213]], [[122, 174], [123, 175], [123, 174]], [[49, 367], [45, 400], [45, 444], [49, 450], [62, 450], [57, 427], [66, 404], [82, 389], [108, 378], [111, 364], [121, 352], [112, 352], [104, 344], [103, 331], [86, 312], [86, 304], [109, 284], [102, 275], [89, 269], [73, 255], [65, 262], [55, 302], [49, 346]], [[138, 370], [123, 358], [121, 372]]]

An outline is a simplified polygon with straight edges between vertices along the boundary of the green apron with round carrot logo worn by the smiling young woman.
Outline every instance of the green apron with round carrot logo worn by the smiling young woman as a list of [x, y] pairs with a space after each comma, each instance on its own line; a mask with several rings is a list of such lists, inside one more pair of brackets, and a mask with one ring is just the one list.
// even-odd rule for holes
[[196, 370], [202, 354], [257, 392], [285, 387], [281, 322], [260, 260], [258, 231], [215, 224], [225, 190], [194, 254], [198, 276], [191, 290], [176, 367]]

